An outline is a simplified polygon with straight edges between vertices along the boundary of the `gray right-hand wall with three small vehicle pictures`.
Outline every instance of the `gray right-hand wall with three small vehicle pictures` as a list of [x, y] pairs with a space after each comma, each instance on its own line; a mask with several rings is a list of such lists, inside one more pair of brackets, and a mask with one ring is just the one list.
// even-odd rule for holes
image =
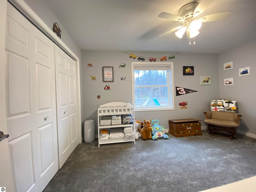
[[[233, 68], [223, 70], [224, 63], [233, 62]], [[238, 132], [256, 136], [256, 41], [219, 54], [220, 98], [238, 101], [242, 114]], [[250, 75], [239, 76], [239, 68], [250, 67]], [[234, 78], [234, 85], [224, 86], [224, 78]]]

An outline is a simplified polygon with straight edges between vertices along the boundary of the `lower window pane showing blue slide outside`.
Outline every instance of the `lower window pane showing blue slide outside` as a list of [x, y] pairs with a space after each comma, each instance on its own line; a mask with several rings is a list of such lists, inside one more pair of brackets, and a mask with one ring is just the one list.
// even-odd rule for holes
[[168, 86], [135, 86], [135, 107], [168, 106]]

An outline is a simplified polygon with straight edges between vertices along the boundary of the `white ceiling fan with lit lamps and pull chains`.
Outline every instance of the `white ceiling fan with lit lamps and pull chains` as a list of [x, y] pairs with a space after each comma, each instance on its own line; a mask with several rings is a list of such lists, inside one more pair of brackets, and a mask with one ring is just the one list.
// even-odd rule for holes
[[198, 30], [201, 28], [202, 22], [222, 20], [224, 18], [227, 18], [232, 13], [232, 11], [227, 11], [227, 12], [221, 12], [216, 14], [210, 14], [210, 15], [206, 15], [199, 18], [198, 16], [202, 14], [202, 12], [204, 12], [204, 10], [206, 10], [206, 8], [208, 8], [208, 6], [212, 4], [212, 2], [214, 2], [214, 0], [202, 0], [200, 3], [198, 2], [188, 3], [182, 6], [182, 8], [180, 8], [178, 15], [174, 15], [166, 12], [160, 13], [158, 15], [159, 18], [179, 21], [181, 23], [180, 26], [177, 26], [167, 31], [161, 34], [160, 36], [164, 36], [166, 34], [170, 34], [176, 31], [175, 34], [179, 38], [182, 38], [185, 32], [187, 34], [187, 38], [193, 38], [199, 34]]

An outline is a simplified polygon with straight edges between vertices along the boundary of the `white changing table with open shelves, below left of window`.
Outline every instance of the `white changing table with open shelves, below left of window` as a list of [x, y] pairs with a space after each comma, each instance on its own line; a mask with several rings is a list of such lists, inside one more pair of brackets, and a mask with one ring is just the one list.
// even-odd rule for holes
[[[133, 124], [122, 124], [122, 119], [116, 120], [115, 124], [113, 124], [113, 120], [111, 119], [112, 115], [125, 115], [131, 114], [133, 116]], [[100, 138], [100, 133], [102, 129], [110, 128], [125, 128], [132, 127], [133, 136], [132, 137], [124, 137], [124, 138]], [[135, 144], [135, 135], [134, 135], [134, 107], [125, 102], [110, 102], [101, 105], [98, 108], [98, 147], [101, 144], [110, 144], [110, 143], [120, 143], [120, 142], [134, 142]]]

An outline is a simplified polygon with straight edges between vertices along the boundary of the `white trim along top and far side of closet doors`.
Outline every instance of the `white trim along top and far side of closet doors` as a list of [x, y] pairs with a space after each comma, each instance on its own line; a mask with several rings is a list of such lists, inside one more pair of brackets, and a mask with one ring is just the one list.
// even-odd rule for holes
[[60, 38], [44, 23], [40, 17], [24, 2], [24, 0], [9, 0], [14, 4], [28, 19], [30, 19], [42, 32], [50, 37], [60, 48], [68, 53], [76, 61], [76, 84], [77, 84], [77, 101], [78, 101], [78, 137], [79, 143], [82, 143], [82, 119], [81, 119], [81, 96], [80, 96], [80, 63], [79, 58], [62, 42]]

